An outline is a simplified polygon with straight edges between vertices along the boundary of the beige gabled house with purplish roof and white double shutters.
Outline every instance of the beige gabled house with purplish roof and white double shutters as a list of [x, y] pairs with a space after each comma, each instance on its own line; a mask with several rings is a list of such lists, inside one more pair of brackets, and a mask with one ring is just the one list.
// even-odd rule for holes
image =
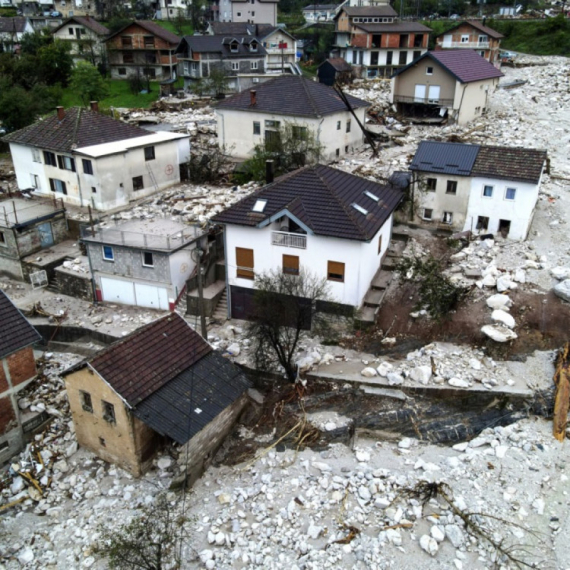
[[430, 51], [396, 71], [390, 101], [404, 115], [464, 125], [485, 113], [500, 77], [472, 50]]

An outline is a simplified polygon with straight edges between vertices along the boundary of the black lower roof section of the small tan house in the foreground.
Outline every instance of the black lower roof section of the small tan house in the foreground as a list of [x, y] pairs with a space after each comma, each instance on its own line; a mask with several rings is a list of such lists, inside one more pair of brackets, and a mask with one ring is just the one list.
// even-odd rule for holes
[[238, 366], [212, 351], [143, 400], [133, 414], [182, 445], [249, 387]]

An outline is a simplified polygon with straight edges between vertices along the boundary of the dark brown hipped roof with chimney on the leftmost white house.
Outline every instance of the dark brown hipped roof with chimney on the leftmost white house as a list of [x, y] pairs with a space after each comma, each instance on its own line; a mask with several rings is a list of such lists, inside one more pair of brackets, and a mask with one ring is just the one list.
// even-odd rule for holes
[[13, 142], [54, 150], [71, 152], [76, 148], [143, 137], [148, 131], [116, 121], [95, 111], [72, 107], [66, 109], [60, 121], [57, 113], [3, 137]]

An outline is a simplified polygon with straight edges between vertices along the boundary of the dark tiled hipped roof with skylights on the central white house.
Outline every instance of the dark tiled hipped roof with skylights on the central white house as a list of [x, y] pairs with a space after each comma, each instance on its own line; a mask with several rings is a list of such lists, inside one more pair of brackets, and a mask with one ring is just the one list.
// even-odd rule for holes
[[[277, 178], [212, 220], [255, 227], [286, 210], [316, 235], [368, 241], [390, 217], [402, 196], [401, 190], [390, 185], [328, 166], [309, 166]], [[267, 200], [263, 213], [253, 212], [259, 199]], [[356, 210], [353, 204], [367, 210], [367, 214]]]

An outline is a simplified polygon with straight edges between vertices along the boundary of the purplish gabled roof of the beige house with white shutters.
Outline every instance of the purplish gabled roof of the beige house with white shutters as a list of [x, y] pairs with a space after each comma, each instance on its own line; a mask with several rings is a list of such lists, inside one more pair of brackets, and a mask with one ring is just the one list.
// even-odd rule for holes
[[503, 73], [494, 65], [482, 58], [478, 53], [470, 49], [450, 49], [439, 51], [427, 51], [412, 63], [398, 69], [392, 77], [406, 72], [410, 67], [417, 65], [422, 59], [429, 58], [439, 63], [455, 79], [461, 83], [483, 81], [503, 77]]

